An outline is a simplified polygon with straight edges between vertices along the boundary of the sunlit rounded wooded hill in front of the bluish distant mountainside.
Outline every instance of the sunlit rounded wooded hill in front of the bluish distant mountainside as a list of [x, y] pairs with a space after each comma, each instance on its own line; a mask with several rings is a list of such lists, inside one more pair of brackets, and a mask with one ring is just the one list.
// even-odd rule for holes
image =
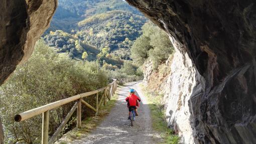
[[[131, 17], [133, 21], [130, 21]], [[141, 35], [141, 27], [146, 22], [145, 17], [125, 11], [110, 11], [94, 15], [78, 23], [78, 37], [98, 49], [108, 47], [110, 52], [121, 59], [130, 59], [129, 51]]]

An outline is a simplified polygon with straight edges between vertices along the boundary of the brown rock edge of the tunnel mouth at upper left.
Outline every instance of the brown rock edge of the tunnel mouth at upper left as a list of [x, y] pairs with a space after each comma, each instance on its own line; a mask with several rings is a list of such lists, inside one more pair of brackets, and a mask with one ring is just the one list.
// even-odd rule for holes
[[[26, 61], [50, 25], [57, 0], [0, 0], [0, 85]], [[3, 142], [0, 120], [0, 143]]]

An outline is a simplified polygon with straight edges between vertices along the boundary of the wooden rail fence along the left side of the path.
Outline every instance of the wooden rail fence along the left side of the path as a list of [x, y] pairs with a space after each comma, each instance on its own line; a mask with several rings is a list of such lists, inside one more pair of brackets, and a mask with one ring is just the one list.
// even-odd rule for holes
[[[141, 78], [141, 77], [140, 77]], [[43, 105], [41, 107], [38, 108], [34, 108], [25, 112], [22, 112], [20, 114], [15, 115], [14, 119], [17, 122], [20, 121], [24, 121], [26, 119], [29, 119], [33, 116], [39, 115], [39, 114], [43, 114], [42, 117], [42, 143], [54, 143], [57, 138], [58, 135], [60, 134], [61, 130], [65, 127], [66, 123], [68, 122], [69, 118], [72, 116], [72, 114], [74, 113], [74, 111], [77, 111], [77, 121], [76, 121], [76, 127], [77, 128], [81, 128], [81, 104], [86, 105], [87, 107], [89, 107], [90, 109], [92, 109], [95, 112], [95, 115], [98, 114], [98, 110], [99, 107], [101, 106], [101, 104], [104, 102], [104, 104], [106, 104], [107, 99], [110, 100], [111, 97], [113, 96], [113, 94], [115, 93], [116, 89], [117, 89], [117, 81], [121, 82], [121, 83], [126, 83], [126, 82], [131, 82], [131, 81], [135, 81], [135, 80], [139, 80], [139, 77], [137, 78], [124, 78], [124, 79], [113, 79], [113, 82], [108, 84], [108, 86], [100, 88], [98, 90], [94, 90], [94, 91], [90, 91], [90, 92], [85, 92], [82, 94], [78, 94], [75, 96], [71, 96], [53, 103], [49, 103], [47, 105]], [[103, 95], [100, 97], [99, 100], [99, 92], [103, 91]], [[83, 100], [84, 97], [87, 96], [91, 96], [96, 94], [96, 108], [94, 108], [93, 106], [91, 106], [89, 103], [87, 103], [86, 101]], [[73, 105], [73, 107], [71, 108], [71, 110], [68, 112], [67, 116], [64, 118], [64, 120], [61, 122], [61, 124], [59, 125], [59, 127], [57, 128], [57, 130], [55, 131], [55, 133], [51, 136], [50, 140], [48, 141], [48, 128], [49, 128], [49, 110], [60, 107], [64, 104], [70, 103], [72, 101], [76, 101], [75, 104]]]

